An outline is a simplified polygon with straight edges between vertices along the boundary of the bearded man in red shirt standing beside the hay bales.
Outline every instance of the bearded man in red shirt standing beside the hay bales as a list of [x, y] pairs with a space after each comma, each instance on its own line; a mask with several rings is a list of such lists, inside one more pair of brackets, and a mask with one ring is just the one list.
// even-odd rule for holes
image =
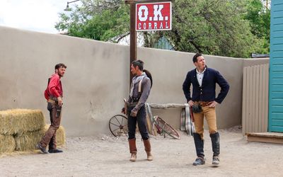
[[52, 74], [48, 79], [47, 89], [45, 90], [45, 98], [47, 100], [47, 110], [50, 111], [50, 122], [51, 125], [41, 141], [37, 143], [37, 149], [47, 154], [46, 147], [49, 145], [49, 153], [63, 152], [57, 149], [56, 143], [56, 131], [60, 126], [61, 121], [61, 110], [62, 110], [62, 97], [63, 89], [61, 84], [61, 77], [64, 76], [67, 66], [59, 63], [55, 66], [55, 74]]

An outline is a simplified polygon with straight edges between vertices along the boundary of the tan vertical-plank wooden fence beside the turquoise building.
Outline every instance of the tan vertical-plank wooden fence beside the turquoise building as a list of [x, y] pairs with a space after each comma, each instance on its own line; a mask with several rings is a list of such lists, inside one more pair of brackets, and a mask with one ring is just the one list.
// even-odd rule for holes
[[267, 132], [269, 64], [243, 69], [243, 135]]

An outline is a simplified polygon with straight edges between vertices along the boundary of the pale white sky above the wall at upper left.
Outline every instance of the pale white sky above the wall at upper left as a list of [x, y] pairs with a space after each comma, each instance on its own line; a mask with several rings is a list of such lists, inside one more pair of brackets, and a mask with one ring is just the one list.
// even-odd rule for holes
[[[75, 4], [76, 2], [69, 6]], [[59, 13], [64, 12], [66, 6], [67, 0], [0, 0], [0, 25], [59, 33], [54, 25], [59, 22]]]

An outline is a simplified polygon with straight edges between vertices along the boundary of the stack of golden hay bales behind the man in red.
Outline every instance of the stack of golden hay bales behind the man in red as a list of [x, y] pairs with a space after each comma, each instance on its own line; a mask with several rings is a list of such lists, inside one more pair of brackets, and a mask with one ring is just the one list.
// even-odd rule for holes
[[[0, 111], [0, 154], [13, 151], [32, 151], [47, 131], [41, 110]], [[64, 128], [57, 130], [57, 145], [65, 142]]]

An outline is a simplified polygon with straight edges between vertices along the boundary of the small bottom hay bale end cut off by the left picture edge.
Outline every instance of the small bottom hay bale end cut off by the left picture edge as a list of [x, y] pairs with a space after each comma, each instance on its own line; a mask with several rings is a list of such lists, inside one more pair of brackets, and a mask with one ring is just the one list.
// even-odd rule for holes
[[13, 152], [16, 148], [12, 135], [0, 135], [0, 154]]

